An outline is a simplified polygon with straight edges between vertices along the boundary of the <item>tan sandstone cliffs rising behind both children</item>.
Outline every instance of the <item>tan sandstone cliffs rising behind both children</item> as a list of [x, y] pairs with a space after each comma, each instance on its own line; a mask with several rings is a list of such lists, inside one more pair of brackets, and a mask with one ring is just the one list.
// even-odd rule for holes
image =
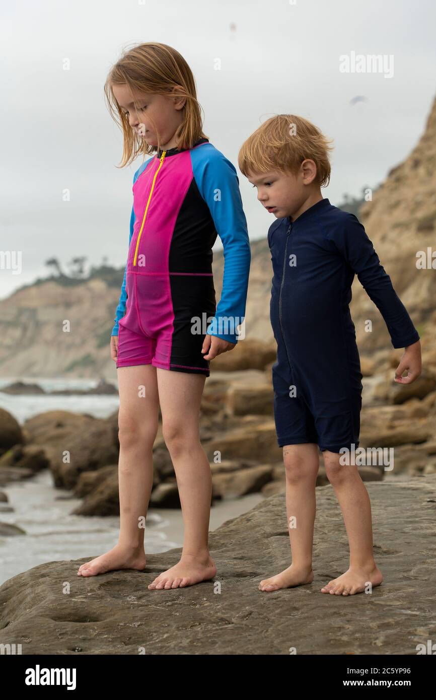
[[[431, 246], [436, 248], [435, 165], [436, 102], [412, 153], [391, 170], [372, 202], [360, 209], [367, 234], [420, 332], [423, 349], [429, 352], [436, 339], [436, 274], [434, 269], [416, 268], [416, 253], [427, 252]], [[246, 338], [274, 347], [269, 324], [272, 268], [266, 238], [253, 241], [251, 247]], [[218, 300], [223, 255], [215, 253], [214, 258]], [[120, 284], [121, 281], [120, 272]], [[96, 277], [75, 286], [62, 286], [50, 279], [1, 301], [0, 377], [114, 378], [116, 369], [109, 344], [119, 294], [120, 286], [108, 286], [104, 279]], [[374, 357], [375, 351], [381, 351], [386, 357], [392, 348], [386, 325], [357, 277], [351, 314], [361, 356]], [[367, 319], [372, 321], [370, 333], [365, 332]], [[65, 320], [70, 322], [68, 332], [63, 328]], [[230, 363], [230, 358], [227, 361]], [[219, 364], [215, 360], [211, 368], [218, 368]]]

